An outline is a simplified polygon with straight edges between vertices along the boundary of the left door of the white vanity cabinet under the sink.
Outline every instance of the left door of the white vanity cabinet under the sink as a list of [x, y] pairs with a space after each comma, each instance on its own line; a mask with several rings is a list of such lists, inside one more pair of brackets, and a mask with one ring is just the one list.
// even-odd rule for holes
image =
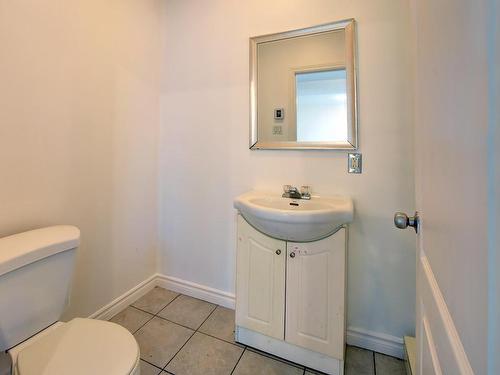
[[280, 340], [285, 330], [286, 243], [238, 215], [236, 324]]

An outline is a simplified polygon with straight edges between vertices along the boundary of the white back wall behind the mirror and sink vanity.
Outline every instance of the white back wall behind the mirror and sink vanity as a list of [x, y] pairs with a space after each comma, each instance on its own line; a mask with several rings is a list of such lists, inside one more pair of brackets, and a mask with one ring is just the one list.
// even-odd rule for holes
[[[414, 331], [415, 235], [394, 228], [414, 209], [409, 8], [392, 0], [167, 0], [160, 138], [160, 270], [234, 292], [235, 210], [249, 189], [283, 184], [348, 194], [348, 321]], [[248, 149], [248, 38], [353, 17], [358, 22], [360, 151]]]

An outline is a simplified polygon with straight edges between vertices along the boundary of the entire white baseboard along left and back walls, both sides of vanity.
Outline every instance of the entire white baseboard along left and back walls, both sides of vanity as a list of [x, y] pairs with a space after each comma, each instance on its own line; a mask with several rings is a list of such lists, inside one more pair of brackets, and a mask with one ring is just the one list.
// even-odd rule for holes
[[[235, 296], [232, 293], [157, 273], [114, 299], [106, 306], [100, 308], [90, 315], [89, 318], [108, 320], [125, 307], [141, 298], [155, 286], [160, 286], [177, 293], [199, 298], [230, 309], [234, 309], [236, 304]], [[349, 345], [373, 350], [397, 358], [403, 358], [404, 356], [403, 339], [396, 336], [357, 327], [348, 327], [346, 340]]]

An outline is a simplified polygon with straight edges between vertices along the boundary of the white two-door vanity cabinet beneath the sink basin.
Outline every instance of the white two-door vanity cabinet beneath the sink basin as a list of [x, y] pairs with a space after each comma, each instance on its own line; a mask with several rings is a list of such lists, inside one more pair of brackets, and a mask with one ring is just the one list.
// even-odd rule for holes
[[238, 215], [236, 340], [343, 373], [346, 228], [315, 242], [274, 239]]

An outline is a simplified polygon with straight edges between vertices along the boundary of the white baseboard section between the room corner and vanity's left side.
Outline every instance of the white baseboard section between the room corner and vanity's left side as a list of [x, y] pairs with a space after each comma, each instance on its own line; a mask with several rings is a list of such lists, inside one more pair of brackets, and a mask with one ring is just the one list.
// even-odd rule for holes
[[165, 289], [173, 290], [190, 297], [199, 298], [207, 302], [215, 303], [230, 309], [236, 305], [235, 296], [232, 293], [224, 292], [219, 289], [211, 288], [205, 285], [196, 284], [191, 281], [179, 279], [177, 277], [156, 274], [156, 285]]

